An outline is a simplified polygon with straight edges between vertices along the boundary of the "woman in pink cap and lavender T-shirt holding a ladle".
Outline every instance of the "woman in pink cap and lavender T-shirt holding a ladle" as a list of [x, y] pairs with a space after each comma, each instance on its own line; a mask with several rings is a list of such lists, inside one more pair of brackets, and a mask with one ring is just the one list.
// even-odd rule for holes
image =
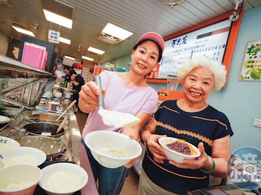
[[[97, 85], [90, 81], [82, 87], [79, 107], [83, 112], [90, 113], [83, 129], [83, 140], [88, 133], [98, 130], [118, 132], [138, 139], [140, 128], [149, 119], [158, 102], [158, 94], [145, 81], [146, 75], [160, 62], [163, 50], [163, 38], [159, 34], [148, 32], [139, 38], [132, 50], [132, 68], [129, 72], [103, 71], [100, 74], [105, 108], [135, 115], [141, 120], [137, 125], [116, 128], [103, 124], [98, 114], [97, 95], [100, 91]], [[94, 178], [99, 182], [99, 193], [119, 194], [128, 175], [128, 168], [133, 165], [134, 160], [125, 166], [109, 169], [99, 165], [86, 145], [85, 148]]]

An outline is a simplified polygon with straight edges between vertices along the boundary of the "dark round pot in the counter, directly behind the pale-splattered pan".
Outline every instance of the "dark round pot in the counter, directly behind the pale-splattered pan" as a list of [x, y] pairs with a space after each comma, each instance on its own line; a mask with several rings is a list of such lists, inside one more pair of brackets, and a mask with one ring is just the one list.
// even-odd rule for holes
[[[42, 135], [46, 137], [59, 137], [63, 135], [64, 128], [62, 128], [61, 131], [58, 134], [56, 134], [58, 127], [59, 126], [56, 124], [51, 124], [47, 122], [34, 122], [23, 126], [23, 128], [25, 129], [25, 131], [28, 132], [29, 135], [34, 135], [34, 136]], [[50, 134], [50, 135], [46, 135], [46, 134]]]

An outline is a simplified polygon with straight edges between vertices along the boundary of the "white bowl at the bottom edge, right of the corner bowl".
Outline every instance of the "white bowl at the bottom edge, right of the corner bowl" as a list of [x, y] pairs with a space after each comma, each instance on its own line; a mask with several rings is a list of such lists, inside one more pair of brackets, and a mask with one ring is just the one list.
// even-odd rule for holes
[[87, 181], [88, 174], [82, 167], [56, 163], [42, 169], [39, 185], [49, 195], [69, 195], [82, 189]]

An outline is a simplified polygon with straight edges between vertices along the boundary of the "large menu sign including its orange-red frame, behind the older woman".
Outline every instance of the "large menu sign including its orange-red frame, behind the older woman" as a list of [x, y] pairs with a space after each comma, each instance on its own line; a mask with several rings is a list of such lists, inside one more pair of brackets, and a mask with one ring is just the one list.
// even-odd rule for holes
[[165, 37], [162, 60], [146, 81], [167, 83], [167, 75], [176, 75], [177, 69], [184, 61], [199, 56], [222, 62], [228, 74], [243, 10], [244, 8], [240, 10], [237, 21], [231, 22], [228, 19], [233, 13], [231, 11]]

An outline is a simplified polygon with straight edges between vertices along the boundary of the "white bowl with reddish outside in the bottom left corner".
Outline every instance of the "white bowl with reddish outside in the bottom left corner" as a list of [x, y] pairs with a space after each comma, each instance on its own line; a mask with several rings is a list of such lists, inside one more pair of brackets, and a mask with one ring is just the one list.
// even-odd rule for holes
[[33, 195], [41, 170], [32, 165], [14, 165], [0, 170], [0, 175], [1, 195]]

